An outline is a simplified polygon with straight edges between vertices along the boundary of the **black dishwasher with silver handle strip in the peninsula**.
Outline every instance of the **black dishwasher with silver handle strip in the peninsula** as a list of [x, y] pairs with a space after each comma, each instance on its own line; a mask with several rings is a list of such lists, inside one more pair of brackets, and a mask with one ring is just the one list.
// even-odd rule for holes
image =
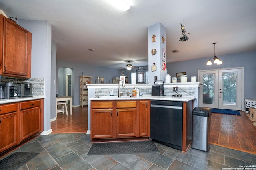
[[182, 150], [182, 104], [151, 100], [150, 138], [153, 141]]

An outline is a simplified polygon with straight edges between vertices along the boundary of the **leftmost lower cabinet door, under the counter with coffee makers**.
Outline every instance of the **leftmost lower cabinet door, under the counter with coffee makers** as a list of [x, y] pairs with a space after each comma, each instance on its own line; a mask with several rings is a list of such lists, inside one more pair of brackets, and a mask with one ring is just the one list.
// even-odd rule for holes
[[18, 113], [0, 115], [0, 152], [19, 143]]

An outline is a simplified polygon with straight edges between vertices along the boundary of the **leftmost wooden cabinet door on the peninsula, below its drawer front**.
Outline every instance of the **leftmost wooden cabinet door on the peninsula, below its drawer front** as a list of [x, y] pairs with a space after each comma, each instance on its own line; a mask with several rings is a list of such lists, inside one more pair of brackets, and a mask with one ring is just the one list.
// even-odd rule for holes
[[113, 109], [92, 109], [91, 139], [113, 138]]

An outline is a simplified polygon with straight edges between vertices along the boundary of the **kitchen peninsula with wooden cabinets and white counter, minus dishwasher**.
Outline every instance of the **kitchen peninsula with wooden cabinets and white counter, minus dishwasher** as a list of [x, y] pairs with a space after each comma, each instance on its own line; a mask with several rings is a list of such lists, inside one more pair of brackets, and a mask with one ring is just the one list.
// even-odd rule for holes
[[[120, 89], [125, 94], [121, 97], [117, 95], [118, 84], [87, 85], [88, 120], [90, 120], [88, 133], [91, 133], [92, 142], [150, 138], [150, 102], [160, 100], [182, 103], [182, 149], [180, 150], [186, 152], [189, 148], [192, 135], [192, 109], [197, 106], [198, 88], [201, 83], [165, 84], [165, 96], [151, 96], [152, 84], [125, 84], [125, 87]], [[175, 93], [172, 87], [177, 86], [182, 97], [172, 96]], [[132, 97], [130, 92], [133, 87], [142, 90], [143, 95]], [[110, 90], [114, 90], [114, 96], [110, 96]]]

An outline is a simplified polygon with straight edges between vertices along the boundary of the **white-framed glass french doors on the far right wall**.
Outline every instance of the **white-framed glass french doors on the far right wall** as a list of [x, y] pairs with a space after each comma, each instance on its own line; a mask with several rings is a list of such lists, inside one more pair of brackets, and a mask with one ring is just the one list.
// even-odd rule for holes
[[243, 68], [198, 71], [198, 80], [203, 83], [199, 88], [199, 106], [242, 110], [242, 74]]

